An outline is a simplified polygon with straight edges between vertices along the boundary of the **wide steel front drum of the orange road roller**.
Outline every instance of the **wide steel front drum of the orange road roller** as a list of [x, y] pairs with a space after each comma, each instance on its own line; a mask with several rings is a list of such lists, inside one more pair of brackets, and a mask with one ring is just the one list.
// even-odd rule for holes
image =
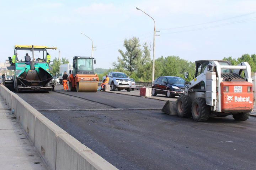
[[77, 92], [97, 92], [98, 81], [81, 80], [76, 83]]

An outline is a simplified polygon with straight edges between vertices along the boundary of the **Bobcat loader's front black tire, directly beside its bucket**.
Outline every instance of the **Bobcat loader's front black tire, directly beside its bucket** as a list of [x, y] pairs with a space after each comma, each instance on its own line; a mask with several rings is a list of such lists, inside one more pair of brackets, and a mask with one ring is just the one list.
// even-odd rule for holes
[[189, 96], [180, 96], [176, 101], [176, 111], [179, 117], [191, 117], [192, 101]]

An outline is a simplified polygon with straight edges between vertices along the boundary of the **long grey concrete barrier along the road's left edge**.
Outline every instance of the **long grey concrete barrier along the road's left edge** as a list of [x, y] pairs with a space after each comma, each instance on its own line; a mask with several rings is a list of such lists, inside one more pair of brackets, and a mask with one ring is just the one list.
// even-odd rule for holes
[[117, 170], [2, 84], [0, 94], [50, 170]]

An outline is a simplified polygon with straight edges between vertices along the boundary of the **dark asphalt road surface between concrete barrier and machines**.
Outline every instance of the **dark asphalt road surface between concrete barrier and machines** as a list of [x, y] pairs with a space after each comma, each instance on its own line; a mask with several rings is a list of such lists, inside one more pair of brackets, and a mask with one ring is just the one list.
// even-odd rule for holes
[[63, 91], [18, 95], [120, 170], [256, 167], [255, 117], [199, 123], [161, 113], [165, 101], [143, 97]]

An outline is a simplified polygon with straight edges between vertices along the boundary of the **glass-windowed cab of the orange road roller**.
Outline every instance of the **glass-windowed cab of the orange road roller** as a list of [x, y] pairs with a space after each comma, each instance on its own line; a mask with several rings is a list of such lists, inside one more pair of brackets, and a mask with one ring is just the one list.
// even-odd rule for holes
[[[75, 74], [95, 74], [93, 62], [96, 63], [92, 57], [73, 57], [73, 73]], [[94, 60], [94, 61], [93, 61]]]

